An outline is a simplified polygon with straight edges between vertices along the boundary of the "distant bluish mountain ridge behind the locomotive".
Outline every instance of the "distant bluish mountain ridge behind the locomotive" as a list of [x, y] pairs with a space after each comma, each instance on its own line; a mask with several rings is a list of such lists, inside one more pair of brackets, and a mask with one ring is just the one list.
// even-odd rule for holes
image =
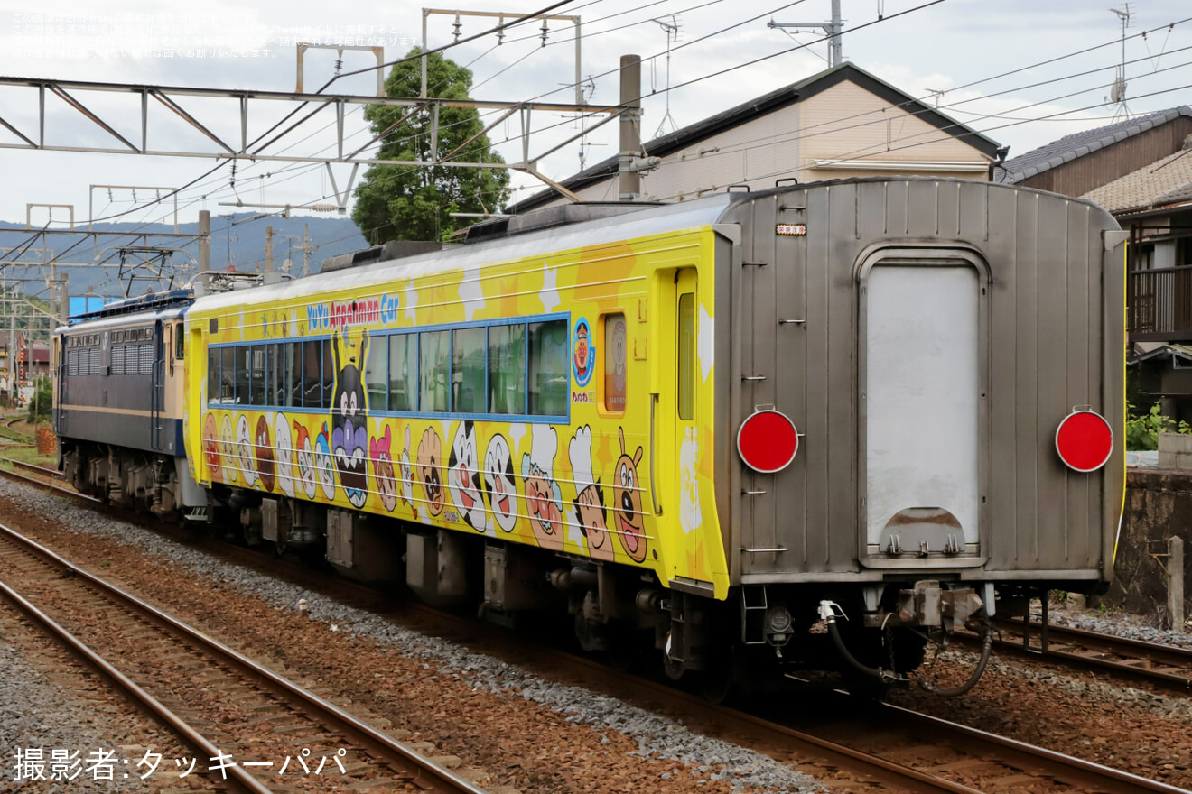
[[[226, 215], [211, 218], [211, 269], [223, 270], [230, 263], [242, 271], [265, 270], [265, 237], [268, 226], [273, 227], [274, 269], [281, 270], [285, 260], [290, 258], [292, 261], [291, 273], [296, 276], [300, 276], [303, 270], [304, 226], [310, 226], [310, 245], [318, 246], [310, 251], [310, 273], [318, 273], [323, 260], [328, 257], [358, 251], [368, 245], [350, 218], [269, 215], [257, 220], [248, 220], [254, 214], [253, 212], [241, 212], [230, 218]], [[236, 225], [237, 223], [238, 225]], [[119, 298], [123, 296], [124, 287], [129, 283], [131, 268], [122, 269], [119, 255], [113, 249], [153, 245], [181, 248], [195, 261], [199, 256], [197, 242], [180, 242], [178, 238], [160, 236], [161, 233], [173, 233], [173, 224], [105, 223], [95, 224], [93, 229], [101, 232], [132, 232], [132, 235], [105, 235], [98, 243], [79, 235], [50, 235], [45, 238], [48, 242], [44, 245], [51, 249], [52, 254], [29, 250], [19, 260], [21, 262], [38, 262], [43, 258], [48, 260], [52, 255], [60, 255], [62, 261], [58, 263], [58, 275], [67, 275], [69, 294], [82, 295], [91, 288], [95, 294]], [[195, 235], [198, 229], [197, 221], [178, 225], [178, 232], [182, 235]], [[0, 221], [0, 252], [6, 262], [17, 258], [17, 251], [29, 240], [30, 235], [31, 232], [25, 231], [24, 224]], [[136, 237], [138, 235], [147, 237]], [[41, 240], [36, 244], [43, 245]], [[67, 251], [67, 249], [72, 250]], [[94, 264], [97, 258], [106, 260], [108, 264], [97, 265]], [[175, 282], [175, 286], [194, 275], [195, 268], [190, 257], [184, 254], [174, 254], [173, 261], [175, 273], [179, 274], [179, 281]], [[6, 265], [4, 271], [10, 281], [13, 279], [27, 280], [25, 281], [27, 294], [44, 296], [49, 268]], [[157, 289], [163, 286], [166, 285], [150, 285], [149, 281], [136, 280], [132, 282], [130, 293], [139, 294], [149, 288]]]

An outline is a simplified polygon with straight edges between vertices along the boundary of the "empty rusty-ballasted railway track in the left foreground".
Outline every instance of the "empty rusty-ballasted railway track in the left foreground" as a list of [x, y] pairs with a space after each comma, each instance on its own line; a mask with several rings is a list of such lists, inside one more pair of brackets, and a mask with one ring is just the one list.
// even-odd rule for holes
[[[317, 759], [319, 771], [331, 764], [328, 770], [339, 783], [373, 792], [483, 792], [331, 702], [2, 525], [0, 573], [0, 593], [29, 620], [150, 712], [199, 758], [219, 759], [218, 769], [209, 767], [207, 774], [232, 790], [267, 794], [271, 784], [317, 784], [311, 776]], [[283, 758], [291, 770], [288, 780], [273, 771]]]

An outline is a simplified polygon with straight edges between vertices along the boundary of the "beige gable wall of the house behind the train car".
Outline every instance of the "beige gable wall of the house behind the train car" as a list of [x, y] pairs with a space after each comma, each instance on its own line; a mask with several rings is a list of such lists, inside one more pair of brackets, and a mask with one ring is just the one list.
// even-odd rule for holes
[[[908, 174], [985, 180], [988, 164], [963, 139], [844, 81], [668, 155], [641, 174], [641, 194], [684, 201], [730, 185], [770, 188], [791, 176], [800, 182]], [[585, 201], [616, 201], [620, 189], [613, 176], [577, 193]], [[565, 201], [560, 196], [542, 206]]]

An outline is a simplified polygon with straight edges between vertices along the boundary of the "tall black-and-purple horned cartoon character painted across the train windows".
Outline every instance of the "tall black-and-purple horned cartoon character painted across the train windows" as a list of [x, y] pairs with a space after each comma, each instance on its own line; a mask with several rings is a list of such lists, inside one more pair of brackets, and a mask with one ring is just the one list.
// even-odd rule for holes
[[[347, 340], [344, 340], [344, 345]], [[368, 419], [365, 406], [365, 383], [352, 356], [343, 363], [340, 355], [340, 333], [331, 339], [335, 356], [335, 399], [331, 402], [331, 448], [335, 450], [335, 468], [340, 473], [340, 484], [353, 507], [364, 507], [368, 496], [368, 467], [365, 454], [368, 446]], [[368, 355], [368, 332], [360, 342], [361, 364]]]

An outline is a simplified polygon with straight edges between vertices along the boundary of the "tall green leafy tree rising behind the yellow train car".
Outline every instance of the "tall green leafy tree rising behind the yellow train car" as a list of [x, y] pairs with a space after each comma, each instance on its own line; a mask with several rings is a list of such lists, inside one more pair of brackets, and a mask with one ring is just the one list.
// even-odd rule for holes
[[[422, 89], [421, 54], [414, 48], [408, 60], [397, 63], [385, 80], [390, 96], [412, 99]], [[472, 73], [437, 52], [427, 56], [427, 94], [442, 99], [468, 99]], [[365, 118], [373, 135], [384, 135], [381, 160], [437, 160], [464, 144], [484, 124], [471, 107], [441, 107], [439, 137], [430, 148], [433, 111], [423, 108], [409, 119], [408, 107], [370, 105]], [[395, 126], [396, 125], [396, 126]], [[453, 157], [455, 162], [503, 163], [490, 151], [488, 136], [479, 136]], [[373, 165], [356, 187], [352, 220], [372, 245], [391, 239], [445, 240], [473, 219], [453, 218], [453, 212], [484, 212], [504, 204], [509, 196], [509, 171], [493, 168], [446, 165]]]

